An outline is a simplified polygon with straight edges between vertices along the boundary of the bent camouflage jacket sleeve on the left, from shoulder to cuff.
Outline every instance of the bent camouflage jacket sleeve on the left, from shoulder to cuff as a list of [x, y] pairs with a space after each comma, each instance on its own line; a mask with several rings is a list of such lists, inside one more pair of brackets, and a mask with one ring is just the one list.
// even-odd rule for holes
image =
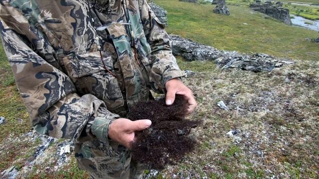
[[108, 126], [119, 116], [96, 96], [79, 96], [45, 36], [14, 9], [0, 8], [2, 44], [34, 129], [55, 138], [84, 142], [97, 137], [107, 143]]

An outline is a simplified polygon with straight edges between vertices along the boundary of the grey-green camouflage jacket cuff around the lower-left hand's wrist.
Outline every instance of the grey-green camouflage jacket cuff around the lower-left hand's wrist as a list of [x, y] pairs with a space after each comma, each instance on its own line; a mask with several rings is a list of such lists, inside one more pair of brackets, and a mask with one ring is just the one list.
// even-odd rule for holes
[[118, 114], [99, 109], [94, 117], [92, 133], [102, 142], [108, 143], [109, 126], [113, 120], [120, 118]]

